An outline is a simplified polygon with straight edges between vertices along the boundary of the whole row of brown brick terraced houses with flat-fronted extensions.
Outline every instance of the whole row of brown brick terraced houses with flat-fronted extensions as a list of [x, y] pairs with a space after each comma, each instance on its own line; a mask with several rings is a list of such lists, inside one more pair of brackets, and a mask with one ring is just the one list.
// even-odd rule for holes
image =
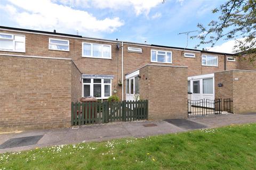
[[[81, 97], [148, 99], [149, 119], [186, 118], [189, 99], [256, 111], [246, 56], [0, 27], [0, 130], [70, 126]], [[251, 103], [248, 106], [247, 103]]]

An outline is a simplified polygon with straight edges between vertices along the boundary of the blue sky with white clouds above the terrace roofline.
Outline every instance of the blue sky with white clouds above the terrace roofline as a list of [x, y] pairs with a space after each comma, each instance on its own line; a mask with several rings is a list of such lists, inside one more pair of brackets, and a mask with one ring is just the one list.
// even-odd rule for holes
[[[194, 48], [196, 31], [218, 14], [223, 0], [0, 0], [0, 25], [135, 43]], [[192, 32], [189, 36], [196, 35]], [[231, 53], [235, 40], [220, 40], [209, 50]], [[209, 48], [209, 45], [197, 49]]]

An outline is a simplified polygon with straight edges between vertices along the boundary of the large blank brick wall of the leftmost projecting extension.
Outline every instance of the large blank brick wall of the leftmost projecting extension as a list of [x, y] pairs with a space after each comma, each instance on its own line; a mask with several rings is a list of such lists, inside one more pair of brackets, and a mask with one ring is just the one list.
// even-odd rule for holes
[[71, 60], [0, 55], [0, 131], [70, 126], [71, 89], [79, 84], [72, 67]]

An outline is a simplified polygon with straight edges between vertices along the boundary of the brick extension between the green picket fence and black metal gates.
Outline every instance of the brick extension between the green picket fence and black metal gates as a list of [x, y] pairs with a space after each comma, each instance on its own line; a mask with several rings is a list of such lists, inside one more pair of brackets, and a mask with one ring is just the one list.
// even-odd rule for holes
[[187, 67], [146, 65], [140, 69], [140, 98], [148, 99], [149, 119], [187, 117]]

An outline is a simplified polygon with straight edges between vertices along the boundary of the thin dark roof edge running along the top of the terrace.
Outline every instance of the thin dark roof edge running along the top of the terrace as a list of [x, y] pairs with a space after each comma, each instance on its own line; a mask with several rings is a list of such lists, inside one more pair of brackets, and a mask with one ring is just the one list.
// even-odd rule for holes
[[[121, 43], [120, 40], [110, 40], [110, 39], [100, 39], [100, 38], [91, 38], [91, 37], [83, 37], [78, 35], [71, 35], [67, 33], [59, 33], [59, 32], [50, 32], [50, 31], [39, 31], [39, 30], [31, 30], [31, 29], [23, 29], [23, 28], [14, 28], [14, 27], [4, 27], [0, 25], [0, 29], [7, 29], [7, 30], [17, 30], [17, 31], [26, 31], [31, 33], [45, 33], [50, 35], [59, 35], [59, 36], [68, 36], [68, 37], [74, 37], [74, 38], [89, 38], [94, 40], [104, 40], [104, 41], [112, 41], [116, 43]], [[151, 47], [162, 47], [162, 48], [173, 48], [173, 49], [181, 49], [181, 50], [191, 50], [195, 52], [201, 52], [201, 53], [211, 53], [211, 54], [222, 54], [222, 55], [237, 55], [237, 54], [230, 54], [230, 53], [221, 53], [221, 52], [211, 52], [206, 50], [199, 50], [199, 49], [193, 49], [193, 48], [182, 48], [182, 47], [172, 47], [172, 46], [162, 46], [162, 45], [155, 45], [155, 44], [141, 44], [141, 43], [134, 43], [129, 41], [123, 41], [127, 44], [134, 44], [134, 45], [143, 45], [143, 46], [151, 46]]]

